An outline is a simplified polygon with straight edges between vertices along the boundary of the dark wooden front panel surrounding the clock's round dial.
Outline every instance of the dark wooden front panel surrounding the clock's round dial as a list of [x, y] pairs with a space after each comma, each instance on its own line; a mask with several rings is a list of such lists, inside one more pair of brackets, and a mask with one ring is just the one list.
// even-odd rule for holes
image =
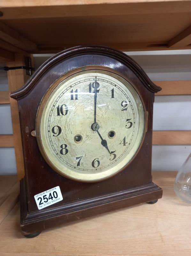
[[[45, 208], [45, 210], [57, 211], [59, 207], [66, 208], [69, 204], [76, 204], [83, 200], [151, 183], [154, 92], [148, 90], [142, 81], [142, 77], [140, 78], [134, 70], [117, 58], [114, 58], [113, 55], [108, 55], [108, 52], [102, 52], [102, 54], [91, 53], [60, 60], [55, 65], [47, 68], [42, 76], [34, 82], [33, 88], [28, 93], [25, 93], [24, 97], [19, 98], [18, 106], [26, 174], [27, 215], [30, 213], [38, 214], [42, 211], [37, 209], [34, 195], [56, 186], [60, 187], [64, 200]], [[39, 104], [51, 84], [63, 73], [71, 69], [90, 65], [112, 68], [128, 77], [141, 93], [149, 115], [148, 131], [146, 132], [142, 147], [135, 158], [136, 161], [133, 161], [126, 169], [114, 177], [91, 184], [69, 180], [54, 172], [43, 159], [37, 146], [36, 138], [30, 134], [31, 131], [35, 130], [36, 113]]]

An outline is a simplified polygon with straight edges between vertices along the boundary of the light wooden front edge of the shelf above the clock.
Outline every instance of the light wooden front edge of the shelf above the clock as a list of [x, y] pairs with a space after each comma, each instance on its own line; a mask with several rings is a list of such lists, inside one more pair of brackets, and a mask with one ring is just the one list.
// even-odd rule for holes
[[[173, 5], [173, 8], [172, 8]], [[49, 0], [49, 1], [4, 1], [1, 3], [3, 16], [8, 19], [36, 19], [53, 17], [132, 15], [149, 13], [187, 13], [190, 12], [190, 1], [174, 0]]]

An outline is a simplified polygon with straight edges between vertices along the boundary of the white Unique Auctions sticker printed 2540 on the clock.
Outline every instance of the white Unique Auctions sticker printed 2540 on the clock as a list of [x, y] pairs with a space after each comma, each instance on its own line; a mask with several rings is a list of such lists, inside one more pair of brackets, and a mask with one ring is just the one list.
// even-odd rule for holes
[[34, 196], [38, 209], [41, 210], [51, 204], [56, 204], [63, 200], [60, 187], [50, 188]]

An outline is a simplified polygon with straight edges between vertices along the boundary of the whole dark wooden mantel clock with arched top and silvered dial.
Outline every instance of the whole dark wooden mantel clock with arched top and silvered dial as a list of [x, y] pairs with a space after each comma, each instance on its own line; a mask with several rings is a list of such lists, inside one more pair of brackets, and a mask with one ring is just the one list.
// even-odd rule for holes
[[11, 93], [25, 163], [23, 235], [162, 197], [151, 176], [159, 90], [123, 52], [78, 46]]

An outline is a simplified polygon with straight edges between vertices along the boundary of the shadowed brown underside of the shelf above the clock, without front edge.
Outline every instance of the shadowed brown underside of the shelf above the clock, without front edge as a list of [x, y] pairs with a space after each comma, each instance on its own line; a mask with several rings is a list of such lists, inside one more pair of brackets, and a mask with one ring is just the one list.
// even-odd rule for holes
[[[170, 16], [165, 14], [162, 20], [161, 14], [157, 17], [152, 14], [150, 16], [137, 14], [26, 19], [25, 22], [20, 19], [14, 22], [12, 20], [4, 22], [25, 37], [31, 38], [38, 45], [39, 50], [33, 53], [53, 53], [84, 44], [101, 44], [122, 51], [169, 49], [168, 40], [187, 24], [190, 14], [181, 14], [180, 21], [172, 25], [171, 21], [174, 19], [176, 19], [176, 14]], [[169, 26], [164, 30], [166, 24]], [[62, 33], [63, 30], [65, 33]], [[71, 34], [71, 31], [76, 32]], [[95, 31], [95, 33], [89, 36], [87, 31]], [[58, 37], [59, 40], [55, 40]], [[186, 48], [191, 49], [191, 46]], [[186, 48], [182, 47], [182, 49]]]

